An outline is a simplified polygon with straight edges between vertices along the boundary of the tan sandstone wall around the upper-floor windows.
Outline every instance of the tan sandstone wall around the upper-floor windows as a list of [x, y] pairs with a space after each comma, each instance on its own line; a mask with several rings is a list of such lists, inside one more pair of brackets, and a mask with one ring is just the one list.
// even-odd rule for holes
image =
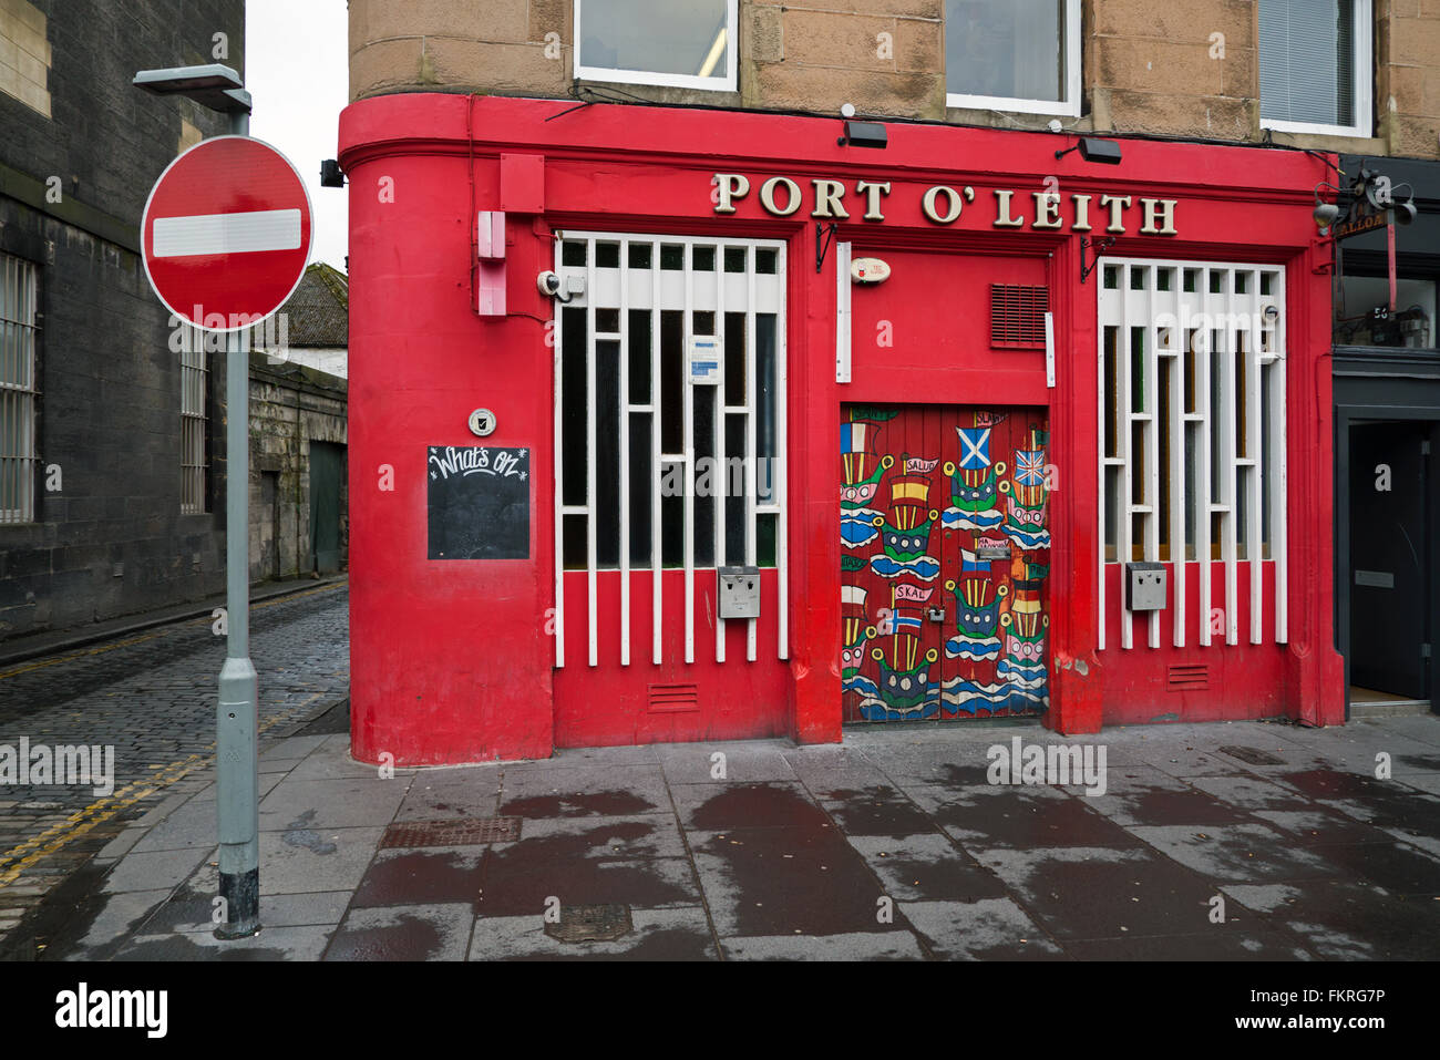
[[[740, 0], [737, 92], [622, 85], [668, 104], [1044, 128], [1048, 115], [953, 109], [943, 0]], [[1440, 0], [1374, 0], [1375, 135], [1274, 132], [1276, 143], [1440, 158]], [[1254, 143], [1257, 0], [1083, 0], [1074, 131]], [[350, 95], [484, 92], [564, 98], [572, 0], [350, 1]]]

